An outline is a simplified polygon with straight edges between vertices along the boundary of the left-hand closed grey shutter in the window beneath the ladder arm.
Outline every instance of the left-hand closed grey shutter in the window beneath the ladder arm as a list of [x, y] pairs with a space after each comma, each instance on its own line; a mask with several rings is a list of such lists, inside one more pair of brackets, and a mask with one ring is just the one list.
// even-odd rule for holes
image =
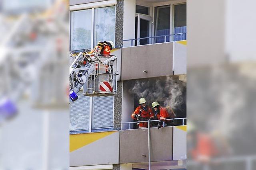
[[78, 92], [78, 100], [70, 104], [70, 131], [89, 129], [90, 97]]

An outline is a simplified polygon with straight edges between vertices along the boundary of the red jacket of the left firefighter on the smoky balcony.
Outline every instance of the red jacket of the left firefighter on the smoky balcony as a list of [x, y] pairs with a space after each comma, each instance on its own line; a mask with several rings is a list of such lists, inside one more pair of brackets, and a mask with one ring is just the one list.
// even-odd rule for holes
[[[148, 109], [145, 111], [142, 109], [140, 105], [132, 113], [132, 119], [134, 120], [136, 120], [134, 117], [135, 115], [141, 115], [141, 117], [146, 119], [150, 119], [151, 117], [154, 117], [154, 115], [152, 114], [152, 109], [150, 107], [148, 107]], [[147, 122], [139, 123], [139, 128], [143, 128], [143, 127], [148, 127], [148, 123]]]

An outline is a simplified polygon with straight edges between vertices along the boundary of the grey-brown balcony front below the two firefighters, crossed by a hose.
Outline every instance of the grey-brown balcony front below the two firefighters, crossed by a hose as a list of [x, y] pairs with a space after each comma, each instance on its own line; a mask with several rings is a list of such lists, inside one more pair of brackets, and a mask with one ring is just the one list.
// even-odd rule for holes
[[[151, 128], [150, 135], [151, 160], [172, 160], [172, 127]], [[148, 129], [120, 131], [120, 163], [133, 162], [148, 162]]]

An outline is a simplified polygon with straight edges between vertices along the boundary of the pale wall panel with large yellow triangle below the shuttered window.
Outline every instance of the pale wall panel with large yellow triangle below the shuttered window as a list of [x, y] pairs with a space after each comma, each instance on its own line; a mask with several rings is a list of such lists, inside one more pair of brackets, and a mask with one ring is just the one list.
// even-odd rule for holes
[[118, 164], [119, 131], [70, 135], [70, 166]]

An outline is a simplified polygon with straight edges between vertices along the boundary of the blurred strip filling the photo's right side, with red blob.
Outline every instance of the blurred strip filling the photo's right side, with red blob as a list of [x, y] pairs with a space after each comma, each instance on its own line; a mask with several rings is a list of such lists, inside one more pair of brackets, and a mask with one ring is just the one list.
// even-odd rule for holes
[[188, 1], [189, 170], [256, 169], [255, 5]]

